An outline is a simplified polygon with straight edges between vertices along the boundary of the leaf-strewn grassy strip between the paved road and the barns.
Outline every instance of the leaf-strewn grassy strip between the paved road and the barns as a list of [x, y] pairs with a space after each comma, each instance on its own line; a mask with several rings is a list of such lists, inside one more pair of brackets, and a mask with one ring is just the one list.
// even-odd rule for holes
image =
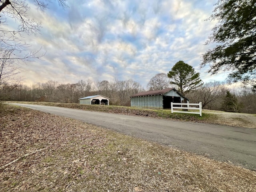
[[56, 106], [56, 107], [64, 107], [64, 108], [72, 108], [72, 109], [80, 109], [80, 110], [108, 112], [108, 113], [115, 113], [115, 114], [144, 116], [144, 117], [151, 117], [151, 118], [165, 118], [165, 119], [172, 119], [172, 120], [178, 120], [178, 121], [202, 122], [202, 123], [238, 126], [238, 127], [244, 127], [244, 128], [256, 128], [255, 114], [203, 110], [202, 117], [200, 117], [198, 114], [184, 114], [184, 113], [172, 114], [170, 109], [153, 110], [153, 109], [132, 108], [132, 107], [126, 107], [126, 106], [84, 105], [84, 104], [75, 104], [75, 103], [70, 104], [70, 103], [55, 103], [55, 102], [14, 102], [14, 103]]

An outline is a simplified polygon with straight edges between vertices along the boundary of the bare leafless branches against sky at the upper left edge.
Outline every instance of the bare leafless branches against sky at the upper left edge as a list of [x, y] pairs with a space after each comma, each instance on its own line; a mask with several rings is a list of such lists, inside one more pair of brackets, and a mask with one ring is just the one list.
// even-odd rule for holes
[[[38, 10], [44, 11], [48, 8], [50, 0], [34, 0]], [[66, 0], [58, 0], [63, 8], [67, 8]], [[40, 50], [28, 52], [28, 44], [22, 42], [23, 34], [36, 35], [40, 32], [41, 22], [30, 18], [28, 14], [30, 7], [26, 0], [0, 0], [0, 84], [13, 84], [12, 74], [17, 74], [18, 64], [41, 58], [44, 53]], [[8, 22], [15, 20], [18, 23], [16, 30], [8, 27]], [[17, 78], [14, 78], [17, 80]], [[18, 81], [19, 82], [19, 81]], [[18, 84], [16, 82], [16, 85]]]

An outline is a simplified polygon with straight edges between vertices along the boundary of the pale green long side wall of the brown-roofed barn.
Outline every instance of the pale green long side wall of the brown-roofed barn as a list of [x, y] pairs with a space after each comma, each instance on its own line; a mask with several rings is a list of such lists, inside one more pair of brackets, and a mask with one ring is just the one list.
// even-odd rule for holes
[[149, 109], [162, 109], [163, 108], [163, 96], [144, 96], [144, 97], [132, 97], [131, 106], [138, 108]]

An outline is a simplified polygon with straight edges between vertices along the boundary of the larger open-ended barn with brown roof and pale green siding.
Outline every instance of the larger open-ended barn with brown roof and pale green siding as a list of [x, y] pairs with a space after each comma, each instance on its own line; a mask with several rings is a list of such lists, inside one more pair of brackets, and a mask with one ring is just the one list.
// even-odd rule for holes
[[171, 108], [171, 102], [181, 103], [184, 99], [189, 101], [174, 88], [140, 92], [130, 98], [132, 107], [150, 109]]

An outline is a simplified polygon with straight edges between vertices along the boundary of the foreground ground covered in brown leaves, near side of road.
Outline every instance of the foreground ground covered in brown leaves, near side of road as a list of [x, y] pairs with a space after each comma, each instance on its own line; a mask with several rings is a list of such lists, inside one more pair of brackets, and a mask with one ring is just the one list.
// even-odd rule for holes
[[4, 105], [0, 189], [254, 192], [256, 173], [70, 118]]

